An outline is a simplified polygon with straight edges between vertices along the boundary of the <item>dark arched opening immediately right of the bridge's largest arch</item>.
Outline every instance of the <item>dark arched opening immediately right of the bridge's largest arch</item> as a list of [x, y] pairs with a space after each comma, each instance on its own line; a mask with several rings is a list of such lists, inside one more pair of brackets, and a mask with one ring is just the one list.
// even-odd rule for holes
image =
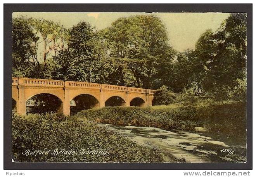
[[92, 95], [88, 94], [82, 94], [76, 96], [73, 100], [70, 101], [70, 114], [74, 115], [81, 110], [86, 110], [86, 109], [92, 109], [92, 108], [97, 108], [99, 107], [100, 103]]

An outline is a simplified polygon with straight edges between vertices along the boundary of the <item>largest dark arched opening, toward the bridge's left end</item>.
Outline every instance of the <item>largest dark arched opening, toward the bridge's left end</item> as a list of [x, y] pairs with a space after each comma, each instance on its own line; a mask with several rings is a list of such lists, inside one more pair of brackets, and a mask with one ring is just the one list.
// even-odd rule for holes
[[62, 112], [62, 101], [55, 95], [41, 93], [26, 101], [26, 113]]

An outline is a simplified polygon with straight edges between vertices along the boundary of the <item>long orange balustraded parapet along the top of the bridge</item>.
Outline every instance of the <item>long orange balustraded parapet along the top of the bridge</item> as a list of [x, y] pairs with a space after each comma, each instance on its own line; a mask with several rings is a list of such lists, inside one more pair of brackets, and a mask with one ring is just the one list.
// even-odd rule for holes
[[155, 90], [151, 90], [151, 89], [116, 86], [116, 85], [109, 85], [109, 84], [12, 77], [12, 85], [19, 85], [19, 84], [22, 84], [25, 86], [42, 86], [42, 87], [93, 88], [93, 89], [104, 89], [104, 90], [110, 90], [110, 91], [124, 91], [124, 92], [129, 91], [132, 93], [143, 93], [143, 94], [155, 93]]

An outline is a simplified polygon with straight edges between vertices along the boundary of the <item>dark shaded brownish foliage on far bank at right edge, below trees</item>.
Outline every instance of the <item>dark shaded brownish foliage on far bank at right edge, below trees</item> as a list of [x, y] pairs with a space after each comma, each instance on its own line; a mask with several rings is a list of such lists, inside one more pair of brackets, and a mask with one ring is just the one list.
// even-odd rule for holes
[[246, 103], [201, 107], [198, 116], [210, 132], [226, 137], [246, 137]]

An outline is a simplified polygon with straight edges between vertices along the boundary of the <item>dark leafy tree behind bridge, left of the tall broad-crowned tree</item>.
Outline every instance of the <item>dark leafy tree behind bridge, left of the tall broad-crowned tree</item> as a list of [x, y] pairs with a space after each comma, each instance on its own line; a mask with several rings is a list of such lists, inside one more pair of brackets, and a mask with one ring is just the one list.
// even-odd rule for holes
[[68, 31], [68, 49], [54, 57], [54, 79], [104, 82], [111, 72], [106, 47], [87, 22], [80, 22]]

